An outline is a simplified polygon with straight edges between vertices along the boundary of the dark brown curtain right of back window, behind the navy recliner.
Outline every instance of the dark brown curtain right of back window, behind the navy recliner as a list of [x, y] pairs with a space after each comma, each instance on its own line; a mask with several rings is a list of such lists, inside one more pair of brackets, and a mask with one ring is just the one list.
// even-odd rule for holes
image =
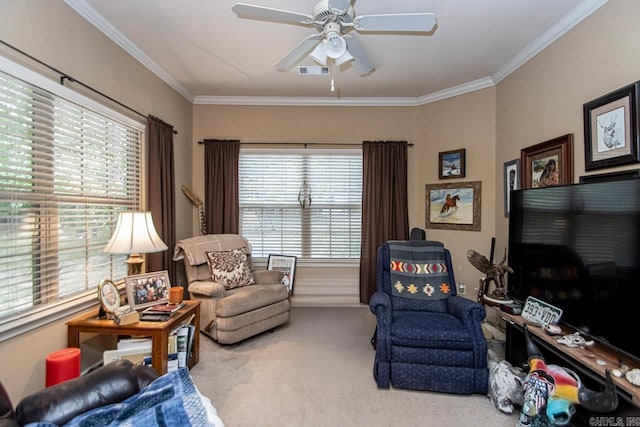
[[407, 142], [362, 144], [362, 249], [360, 302], [376, 290], [376, 255], [387, 240], [409, 238]]

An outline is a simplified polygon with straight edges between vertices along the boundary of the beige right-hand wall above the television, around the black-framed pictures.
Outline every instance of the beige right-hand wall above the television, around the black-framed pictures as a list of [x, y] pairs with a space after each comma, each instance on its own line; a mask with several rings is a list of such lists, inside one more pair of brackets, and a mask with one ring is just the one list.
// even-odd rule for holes
[[[582, 105], [640, 79], [640, 2], [611, 0], [496, 88], [496, 193], [502, 166], [520, 149], [573, 133], [574, 182], [584, 170]], [[630, 165], [590, 173], [635, 169]], [[496, 200], [497, 247], [508, 239], [502, 197]]]

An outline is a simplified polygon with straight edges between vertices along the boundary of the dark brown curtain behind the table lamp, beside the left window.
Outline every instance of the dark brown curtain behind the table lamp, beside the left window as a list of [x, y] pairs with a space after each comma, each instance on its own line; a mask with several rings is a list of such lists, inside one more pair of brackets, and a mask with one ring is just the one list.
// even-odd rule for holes
[[147, 155], [147, 205], [156, 231], [169, 248], [147, 255], [147, 271], [167, 270], [171, 283], [177, 284], [173, 265], [176, 245], [175, 166], [173, 159], [173, 126], [149, 116], [149, 153]]

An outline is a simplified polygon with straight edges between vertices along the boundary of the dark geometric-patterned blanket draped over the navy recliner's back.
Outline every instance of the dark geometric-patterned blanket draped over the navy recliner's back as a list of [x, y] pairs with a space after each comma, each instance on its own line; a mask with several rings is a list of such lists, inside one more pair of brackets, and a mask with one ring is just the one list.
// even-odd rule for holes
[[440, 300], [451, 294], [444, 246], [439, 242], [389, 242], [394, 296]]

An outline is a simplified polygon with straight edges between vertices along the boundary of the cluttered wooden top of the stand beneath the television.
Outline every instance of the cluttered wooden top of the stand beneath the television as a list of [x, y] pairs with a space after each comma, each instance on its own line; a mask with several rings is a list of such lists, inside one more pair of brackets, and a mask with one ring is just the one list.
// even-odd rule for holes
[[[525, 320], [522, 318], [522, 316], [505, 313], [503, 311], [500, 311], [499, 307], [494, 307], [494, 309], [496, 309], [500, 313], [502, 320], [512, 326], [515, 325], [521, 329], [524, 329]], [[571, 361], [590, 370], [592, 373], [600, 377], [602, 383], [604, 383], [605, 379], [605, 370], [608, 369], [611, 371], [613, 369], [619, 368], [620, 361], [622, 361], [623, 364], [629, 366], [630, 369], [640, 369], [640, 365], [637, 362], [633, 362], [624, 355], [620, 355], [598, 343], [596, 343], [592, 347], [572, 348], [567, 347], [564, 344], [559, 344], [557, 342], [559, 336], [551, 336], [539, 326], [534, 326], [527, 323], [527, 329], [529, 330], [529, 333], [534, 337], [534, 339], [539, 340], [543, 344], [555, 349], [556, 352], [561, 353], [563, 356], [566, 356]], [[576, 331], [562, 326], [562, 335], [572, 334], [574, 332]], [[604, 360], [605, 365], [602, 366], [596, 363], [597, 359]], [[570, 366], [567, 367], [571, 368]], [[626, 380], [626, 378], [624, 378], [624, 376], [622, 378], [617, 378], [612, 375], [611, 377], [613, 378], [613, 382], [615, 383], [616, 388], [623, 390], [628, 395], [631, 403], [633, 403], [635, 406], [640, 406], [640, 387], [636, 387], [631, 384]]]

